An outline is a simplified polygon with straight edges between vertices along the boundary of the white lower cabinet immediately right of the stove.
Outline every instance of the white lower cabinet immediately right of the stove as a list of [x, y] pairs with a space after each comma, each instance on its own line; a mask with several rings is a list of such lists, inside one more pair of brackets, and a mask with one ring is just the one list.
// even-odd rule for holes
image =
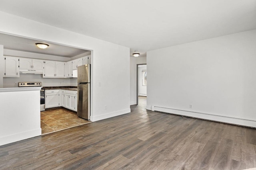
[[45, 108], [60, 106], [60, 90], [45, 90]]

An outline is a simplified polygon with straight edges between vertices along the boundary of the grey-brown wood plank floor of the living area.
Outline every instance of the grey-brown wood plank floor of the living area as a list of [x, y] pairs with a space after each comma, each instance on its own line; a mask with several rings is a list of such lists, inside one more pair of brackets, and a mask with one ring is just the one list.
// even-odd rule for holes
[[0, 147], [0, 169], [242, 170], [256, 167], [256, 129], [132, 112]]

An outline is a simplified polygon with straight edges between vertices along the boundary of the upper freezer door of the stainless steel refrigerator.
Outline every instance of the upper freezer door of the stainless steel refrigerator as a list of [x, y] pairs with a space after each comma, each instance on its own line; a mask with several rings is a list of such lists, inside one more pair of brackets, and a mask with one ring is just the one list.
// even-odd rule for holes
[[90, 83], [90, 70], [91, 64], [85, 64], [77, 67], [77, 82], [78, 83]]

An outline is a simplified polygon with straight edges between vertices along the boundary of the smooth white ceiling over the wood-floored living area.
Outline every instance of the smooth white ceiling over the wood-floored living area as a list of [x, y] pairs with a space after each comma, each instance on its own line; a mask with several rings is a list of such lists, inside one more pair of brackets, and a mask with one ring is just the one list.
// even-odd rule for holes
[[144, 54], [256, 29], [255, 0], [0, 0], [0, 10]]

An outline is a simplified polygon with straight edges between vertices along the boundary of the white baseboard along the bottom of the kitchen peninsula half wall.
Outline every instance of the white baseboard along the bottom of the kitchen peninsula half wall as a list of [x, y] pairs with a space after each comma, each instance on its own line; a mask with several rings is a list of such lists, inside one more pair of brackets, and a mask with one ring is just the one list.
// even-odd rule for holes
[[21, 140], [28, 139], [28, 138], [40, 136], [40, 135], [42, 135], [41, 128], [0, 137], [0, 146], [6, 145], [9, 143], [13, 143], [13, 142], [17, 142], [17, 141], [21, 141]]

